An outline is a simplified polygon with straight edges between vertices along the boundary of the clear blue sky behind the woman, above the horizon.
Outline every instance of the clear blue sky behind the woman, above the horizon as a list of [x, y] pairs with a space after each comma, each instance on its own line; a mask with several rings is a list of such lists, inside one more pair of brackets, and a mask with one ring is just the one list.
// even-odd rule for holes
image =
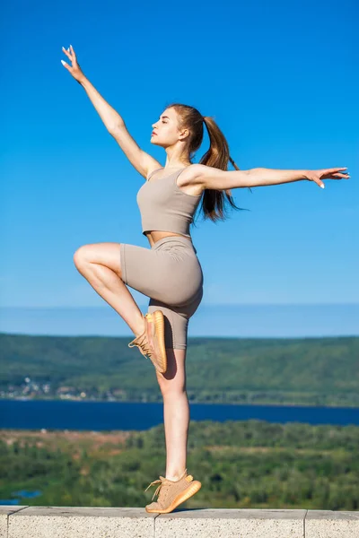
[[[2, 308], [109, 308], [77, 272], [74, 251], [104, 241], [149, 246], [136, 205], [144, 178], [61, 64], [70, 44], [162, 164], [152, 124], [180, 101], [215, 117], [240, 169], [348, 167], [349, 180], [324, 180], [325, 189], [300, 181], [233, 190], [250, 211], [217, 224], [198, 219], [204, 307], [359, 303], [354, 0], [223, 2], [220, 10], [15, 0], [4, 11]], [[207, 148], [206, 136], [195, 162]]]

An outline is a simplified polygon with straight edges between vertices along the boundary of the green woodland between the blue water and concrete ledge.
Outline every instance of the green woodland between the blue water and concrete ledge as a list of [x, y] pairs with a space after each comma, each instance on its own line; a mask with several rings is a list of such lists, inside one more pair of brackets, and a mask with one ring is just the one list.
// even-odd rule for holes
[[[181, 508], [359, 509], [359, 427], [191, 421]], [[20, 505], [144, 507], [165, 473], [163, 426], [145, 431], [2, 430], [0, 499]], [[38, 490], [22, 499], [22, 490]]]

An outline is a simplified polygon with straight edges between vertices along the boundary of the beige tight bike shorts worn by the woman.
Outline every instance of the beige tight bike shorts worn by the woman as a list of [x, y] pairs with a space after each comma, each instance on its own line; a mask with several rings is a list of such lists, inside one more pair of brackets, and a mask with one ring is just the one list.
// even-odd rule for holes
[[190, 239], [170, 236], [151, 248], [120, 243], [122, 280], [150, 298], [148, 312], [162, 310], [169, 349], [187, 348], [188, 321], [203, 297], [203, 273]]

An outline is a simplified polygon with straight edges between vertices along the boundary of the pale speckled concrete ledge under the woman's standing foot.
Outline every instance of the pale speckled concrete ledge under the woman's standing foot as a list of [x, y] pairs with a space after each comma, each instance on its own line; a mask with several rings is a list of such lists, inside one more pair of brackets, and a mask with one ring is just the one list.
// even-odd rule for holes
[[0, 506], [0, 538], [358, 538], [359, 512]]

